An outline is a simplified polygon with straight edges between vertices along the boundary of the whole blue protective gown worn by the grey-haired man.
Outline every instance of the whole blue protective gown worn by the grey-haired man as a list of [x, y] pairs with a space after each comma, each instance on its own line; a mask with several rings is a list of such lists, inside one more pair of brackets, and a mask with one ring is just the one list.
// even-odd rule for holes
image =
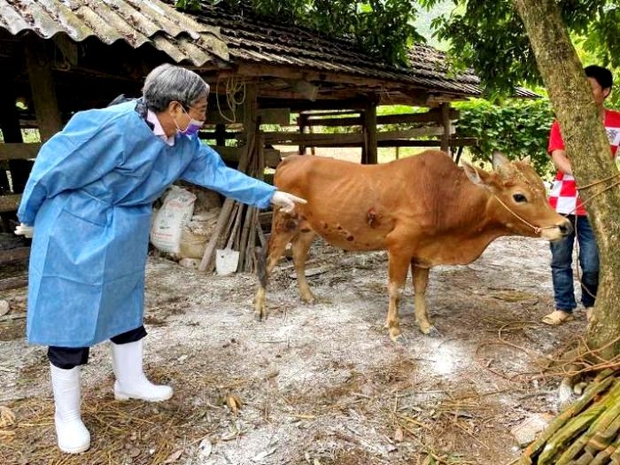
[[78, 112], [43, 144], [18, 212], [35, 227], [28, 342], [88, 347], [142, 324], [152, 203], [178, 179], [260, 208], [275, 191], [198, 137], [167, 145], [136, 102]]

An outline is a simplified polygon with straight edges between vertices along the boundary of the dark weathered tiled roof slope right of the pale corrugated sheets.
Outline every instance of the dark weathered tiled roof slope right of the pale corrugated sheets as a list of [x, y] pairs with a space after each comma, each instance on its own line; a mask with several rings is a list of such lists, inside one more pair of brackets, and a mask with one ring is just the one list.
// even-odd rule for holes
[[[231, 61], [235, 63], [297, 66], [319, 72], [353, 74], [455, 97], [475, 97], [482, 93], [476, 74], [451, 74], [445, 54], [427, 45], [412, 48], [410, 67], [406, 68], [369, 58], [354, 43], [319, 35], [304, 27], [278, 24], [273, 18], [260, 18], [247, 11], [238, 14], [205, 5], [202, 12], [190, 14], [205, 24], [220, 27]], [[515, 89], [515, 94], [537, 97], [527, 89]]]

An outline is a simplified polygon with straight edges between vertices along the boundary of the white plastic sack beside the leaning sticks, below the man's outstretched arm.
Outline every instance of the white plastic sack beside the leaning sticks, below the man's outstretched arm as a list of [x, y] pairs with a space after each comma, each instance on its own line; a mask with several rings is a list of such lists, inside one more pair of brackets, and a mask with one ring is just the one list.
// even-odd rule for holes
[[196, 196], [189, 190], [170, 186], [151, 225], [151, 244], [159, 251], [179, 253], [182, 231], [194, 213], [194, 202]]

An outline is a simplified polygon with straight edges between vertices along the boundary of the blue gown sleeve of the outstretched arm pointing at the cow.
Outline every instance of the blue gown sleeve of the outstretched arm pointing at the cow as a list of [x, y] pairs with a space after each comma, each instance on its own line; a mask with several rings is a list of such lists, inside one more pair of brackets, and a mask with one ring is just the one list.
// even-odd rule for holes
[[220, 155], [205, 143], [192, 141], [194, 158], [182, 173], [184, 181], [220, 192], [248, 205], [265, 208], [274, 195], [275, 187], [227, 167]]

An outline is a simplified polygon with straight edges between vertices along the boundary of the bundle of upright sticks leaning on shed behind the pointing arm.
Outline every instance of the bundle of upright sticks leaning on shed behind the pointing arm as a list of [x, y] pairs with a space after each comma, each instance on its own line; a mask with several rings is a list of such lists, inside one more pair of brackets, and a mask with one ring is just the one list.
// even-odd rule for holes
[[[265, 171], [263, 145], [260, 132], [252, 134], [247, 140], [237, 169], [252, 177], [263, 179]], [[253, 273], [256, 269], [256, 253], [260, 250], [257, 247], [262, 248], [265, 243], [266, 238], [260, 228], [259, 209], [227, 198], [221, 207], [213, 236], [206, 245], [198, 269], [213, 272], [215, 251], [229, 245], [239, 252], [236, 271]]]

